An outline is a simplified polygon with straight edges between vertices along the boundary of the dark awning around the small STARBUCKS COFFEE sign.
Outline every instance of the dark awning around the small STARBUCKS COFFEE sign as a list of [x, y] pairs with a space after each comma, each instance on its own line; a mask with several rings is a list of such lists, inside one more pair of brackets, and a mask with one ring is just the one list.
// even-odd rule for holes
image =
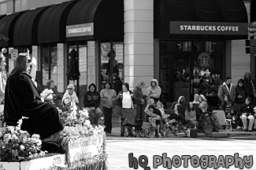
[[91, 24], [93, 34], [67, 37], [67, 41], [89, 39], [124, 39], [123, 0], [80, 0], [73, 5], [67, 26]]

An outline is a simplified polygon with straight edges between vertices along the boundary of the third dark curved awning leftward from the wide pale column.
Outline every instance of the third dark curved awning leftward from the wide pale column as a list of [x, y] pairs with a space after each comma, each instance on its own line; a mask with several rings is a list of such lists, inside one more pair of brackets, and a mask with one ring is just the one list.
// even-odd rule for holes
[[37, 43], [37, 26], [39, 17], [46, 8], [28, 10], [24, 12], [13, 28], [13, 45], [35, 45]]

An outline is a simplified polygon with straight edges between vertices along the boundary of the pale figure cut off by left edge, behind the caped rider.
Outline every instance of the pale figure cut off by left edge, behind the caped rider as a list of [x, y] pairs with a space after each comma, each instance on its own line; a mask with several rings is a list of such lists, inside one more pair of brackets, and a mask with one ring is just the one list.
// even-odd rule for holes
[[0, 54], [0, 104], [5, 99], [5, 90], [6, 90], [6, 57]]

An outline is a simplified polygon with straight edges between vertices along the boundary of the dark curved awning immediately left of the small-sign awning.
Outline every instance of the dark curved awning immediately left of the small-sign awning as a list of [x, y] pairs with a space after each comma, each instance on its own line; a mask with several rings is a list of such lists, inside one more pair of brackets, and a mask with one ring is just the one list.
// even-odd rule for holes
[[42, 14], [38, 24], [38, 43], [65, 42], [65, 26], [69, 10], [76, 1], [51, 5]]

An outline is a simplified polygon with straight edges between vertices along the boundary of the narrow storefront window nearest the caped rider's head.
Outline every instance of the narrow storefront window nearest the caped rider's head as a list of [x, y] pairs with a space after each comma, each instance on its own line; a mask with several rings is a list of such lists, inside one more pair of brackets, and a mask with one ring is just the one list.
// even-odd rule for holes
[[43, 45], [41, 49], [43, 87], [46, 81], [53, 80], [57, 82], [57, 45]]

